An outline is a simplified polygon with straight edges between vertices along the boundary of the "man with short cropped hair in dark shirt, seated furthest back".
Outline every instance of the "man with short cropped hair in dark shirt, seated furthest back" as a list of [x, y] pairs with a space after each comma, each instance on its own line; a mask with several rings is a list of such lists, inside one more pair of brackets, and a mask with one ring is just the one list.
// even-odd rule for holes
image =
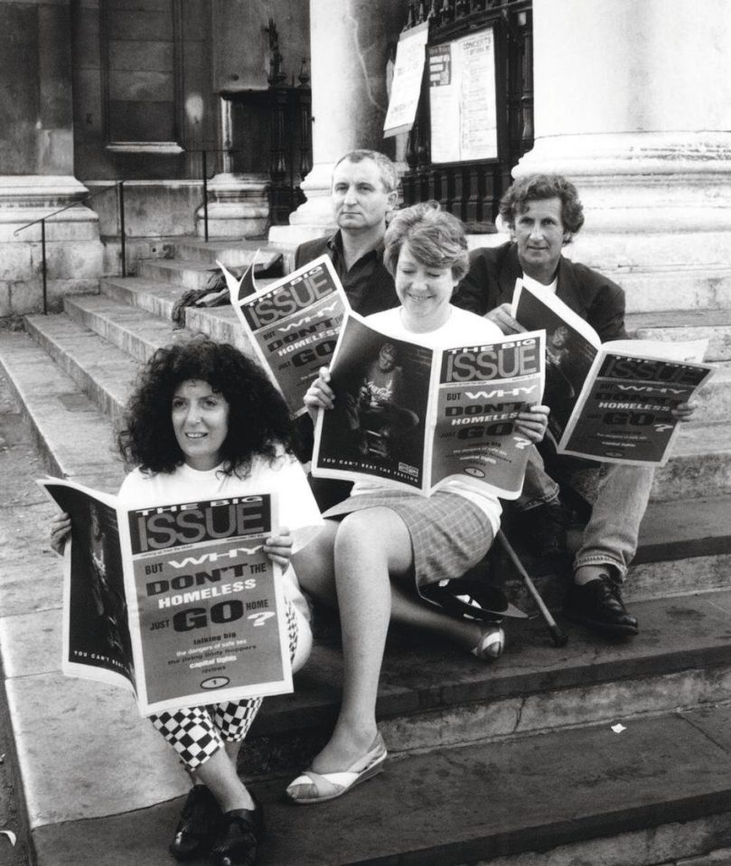
[[[297, 247], [295, 267], [326, 254], [355, 312], [368, 316], [398, 307], [393, 277], [383, 264], [386, 219], [398, 196], [396, 166], [377, 151], [351, 151], [335, 163], [330, 195], [338, 228]], [[298, 456], [307, 461], [312, 455], [312, 424], [306, 415], [298, 429], [303, 439]], [[352, 486], [312, 477], [310, 485], [323, 510], [342, 502]]]

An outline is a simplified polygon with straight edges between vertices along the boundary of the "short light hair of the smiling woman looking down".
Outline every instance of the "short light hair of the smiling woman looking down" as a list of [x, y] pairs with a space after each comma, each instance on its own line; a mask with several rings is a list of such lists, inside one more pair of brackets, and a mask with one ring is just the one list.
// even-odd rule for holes
[[404, 244], [422, 265], [451, 268], [455, 280], [461, 280], [470, 265], [464, 226], [451, 213], [441, 210], [438, 201], [423, 201], [399, 210], [386, 229], [383, 243], [383, 264], [392, 276], [396, 275]]

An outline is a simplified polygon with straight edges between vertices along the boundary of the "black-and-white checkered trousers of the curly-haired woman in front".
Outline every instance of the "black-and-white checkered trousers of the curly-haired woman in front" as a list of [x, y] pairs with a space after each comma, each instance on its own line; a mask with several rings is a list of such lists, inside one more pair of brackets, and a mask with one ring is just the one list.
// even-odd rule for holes
[[[299, 624], [295, 609], [286, 601], [286, 630], [289, 657], [295, 657]], [[186, 707], [175, 712], [161, 712], [150, 721], [162, 733], [188, 769], [195, 769], [214, 755], [224, 742], [240, 742], [257, 717], [262, 698], [211, 703]]]

